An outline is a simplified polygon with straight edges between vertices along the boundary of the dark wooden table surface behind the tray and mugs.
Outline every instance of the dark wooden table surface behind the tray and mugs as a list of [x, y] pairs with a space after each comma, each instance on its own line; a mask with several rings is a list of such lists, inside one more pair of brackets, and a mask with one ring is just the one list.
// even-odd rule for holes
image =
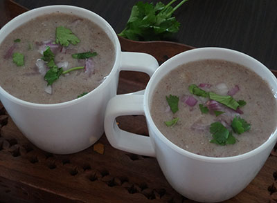
[[[15, 1], [29, 9], [53, 4], [87, 8], [104, 17], [119, 33], [138, 0]], [[277, 70], [276, 0], [189, 0], [175, 16], [181, 28], [170, 41], [194, 47], [219, 46], [239, 50]]]

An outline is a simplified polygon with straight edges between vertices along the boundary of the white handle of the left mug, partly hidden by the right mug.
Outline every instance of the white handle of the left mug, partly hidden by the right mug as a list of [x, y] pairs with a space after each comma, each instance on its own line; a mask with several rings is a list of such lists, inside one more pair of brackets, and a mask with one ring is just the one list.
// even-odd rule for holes
[[120, 70], [145, 72], [151, 77], [158, 67], [158, 61], [152, 55], [141, 52], [121, 52]]

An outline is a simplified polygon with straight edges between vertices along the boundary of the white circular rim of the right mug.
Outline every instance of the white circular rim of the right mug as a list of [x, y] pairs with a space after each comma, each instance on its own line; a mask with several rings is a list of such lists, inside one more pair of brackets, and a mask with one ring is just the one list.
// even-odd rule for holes
[[[240, 155], [229, 156], [229, 157], [208, 157], [208, 156], [205, 156], [205, 155], [197, 155], [195, 153], [191, 153], [189, 151], [186, 151], [184, 148], [181, 148], [181, 147], [173, 144], [168, 138], [166, 138], [166, 136], [163, 135], [163, 133], [161, 133], [161, 131], [159, 131], [159, 128], [157, 128], [157, 126], [154, 124], [152, 116], [150, 115], [150, 105], [149, 105], [150, 104], [150, 99], [151, 99], [150, 90], [155, 88], [155, 85], [157, 84], [157, 82], [160, 81], [159, 80], [157, 82], [154, 82], [154, 79], [157, 77], [157, 75], [161, 74], [160, 72], [163, 71], [164, 67], [168, 67], [169, 66], [168, 64], [172, 64], [172, 61], [178, 60], [180, 57], [185, 57], [184, 55], [197, 54], [197, 52], [209, 52], [209, 51], [214, 51], [214, 50], [229, 52], [233, 55], [240, 55], [240, 57], [247, 57], [247, 59], [250, 59], [251, 61], [254, 61], [256, 64], [258, 64], [258, 66], [260, 66], [261, 68], [264, 69], [266, 75], [269, 75], [272, 78], [274, 78], [275, 86], [277, 88], [277, 79], [273, 75], [273, 73], [265, 65], [260, 63], [260, 61], [254, 59], [253, 57], [250, 57], [249, 55], [246, 55], [242, 52], [239, 52], [239, 51], [236, 51], [236, 50], [231, 50], [231, 49], [228, 49], [228, 48], [218, 48], [218, 47], [195, 48], [193, 50], [187, 50], [185, 52], [181, 52], [178, 55], [175, 55], [174, 57], [168, 59], [163, 64], [161, 64], [161, 66], [159, 66], [159, 68], [154, 72], [154, 74], [150, 78], [150, 81], [148, 82], [148, 85], [145, 88], [145, 94], [144, 94], [144, 98], [143, 98], [143, 106], [144, 106], [144, 111], [145, 111], [145, 117], [146, 117], [146, 120], [149, 124], [148, 127], [152, 128], [152, 130], [157, 135], [157, 137], [161, 140], [161, 142], [163, 142], [164, 144], [169, 146], [172, 150], [176, 151], [177, 153], [179, 153], [181, 155], [185, 155], [187, 157], [190, 157], [193, 160], [201, 160], [201, 161], [204, 161], [204, 162], [211, 162], [211, 163], [226, 163], [226, 162], [234, 162], [234, 161], [238, 161], [238, 160], [245, 160], [249, 157], [253, 157], [254, 155], [264, 151], [272, 142], [276, 141], [276, 139], [277, 139], [277, 126], [275, 127], [275, 130], [271, 133], [271, 135], [269, 136], [269, 138], [265, 142], [263, 142], [257, 148], [254, 148], [253, 150], [248, 151], [247, 153], [242, 153]], [[209, 58], [209, 59], [212, 59], [212, 58]], [[198, 60], [202, 60], [202, 59], [198, 59]], [[225, 60], [225, 59], [223, 59], [223, 60]], [[195, 60], [191, 60], [191, 61], [195, 61]], [[189, 62], [191, 62], [191, 61], [189, 61]], [[226, 60], [226, 61], [228, 61], [228, 60]], [[175, 68], [177, 68], [177, 66], [175, 66], [171, 70], [173, 70]]]

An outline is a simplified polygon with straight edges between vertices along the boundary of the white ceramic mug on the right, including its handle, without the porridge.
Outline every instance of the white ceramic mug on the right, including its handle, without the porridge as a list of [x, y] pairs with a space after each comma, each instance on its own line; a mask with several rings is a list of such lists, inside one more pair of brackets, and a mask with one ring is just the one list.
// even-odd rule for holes
[[[150, 115], [154, 88], [172, 68], [200, 59], [224, 59], [249, 67], [268, 82], [277, 98], [276, 77], [256, 59], [224, 48], [197, 48], [162, 64], [152, 75], [144, 95], [118, 95], [111, 99], [105, 115], [105, 133], [115, 148], [157, 157], [166, 179], [181, 195], [199, 202], [220, 202], [237, 195], [253, 180], [276, 144], [277, 131], [258, 148], [234, 157], [197, 155], [164, 137]], [[115, 119], [121, 115], [145, 115], [150, 137], [120, 130]]]

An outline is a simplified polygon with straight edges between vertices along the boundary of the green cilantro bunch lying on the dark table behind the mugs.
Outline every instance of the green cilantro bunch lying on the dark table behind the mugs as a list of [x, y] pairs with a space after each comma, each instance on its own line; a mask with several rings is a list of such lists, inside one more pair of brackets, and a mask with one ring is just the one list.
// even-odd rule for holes
[[172, 17], [173, 12], [188, 0], [181, 1], [172, 8], [172, 0], [167, 5], [158, 2], [143, 3], [133, 6], [126, 28], [118, 34], [121, 37], [136, 41], [160, 40], [178, 32], [180, 23]]

